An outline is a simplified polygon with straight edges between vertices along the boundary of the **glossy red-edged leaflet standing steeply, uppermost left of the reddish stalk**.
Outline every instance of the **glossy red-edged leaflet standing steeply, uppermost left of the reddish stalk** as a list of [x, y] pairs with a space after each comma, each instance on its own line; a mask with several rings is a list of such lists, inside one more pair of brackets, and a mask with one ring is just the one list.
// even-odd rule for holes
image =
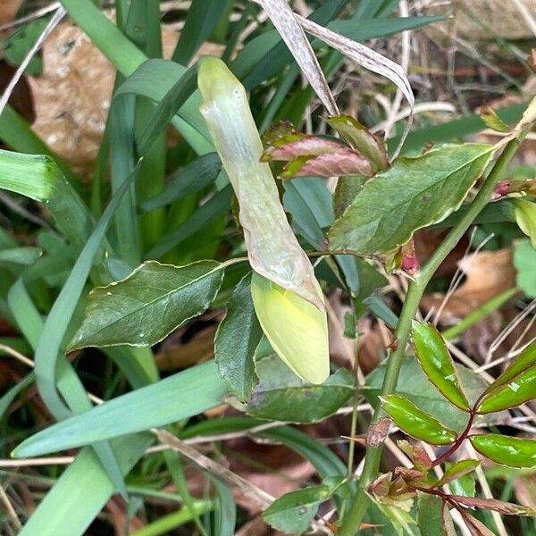
[[469, 410], [469, 402], [462, 390], [452, 357], [440, 332], [427, 322], [414, 321], [412, 338], [415, 355], [428, 379], [452, 404], [465, 411]]

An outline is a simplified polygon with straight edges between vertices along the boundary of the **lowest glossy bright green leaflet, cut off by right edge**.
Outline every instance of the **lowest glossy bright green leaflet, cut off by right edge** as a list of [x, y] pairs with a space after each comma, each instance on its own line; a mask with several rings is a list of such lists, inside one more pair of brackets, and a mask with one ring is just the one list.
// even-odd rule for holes
[[510, 467], [536, 467], [536, 440], [521, 440], [498, 433], [473, 436], [473, 447], [490, 460]]

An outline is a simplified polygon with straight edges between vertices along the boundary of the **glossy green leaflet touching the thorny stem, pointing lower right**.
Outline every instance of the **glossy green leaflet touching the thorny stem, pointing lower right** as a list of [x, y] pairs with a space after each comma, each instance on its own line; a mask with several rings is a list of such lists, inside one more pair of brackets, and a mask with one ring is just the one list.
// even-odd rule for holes
[[456, 440], [456, 431], [450, 430], [430, 414], [399, 395], [380, 397], [381, 406], [402, 431], [431, 445], [448, 445]]

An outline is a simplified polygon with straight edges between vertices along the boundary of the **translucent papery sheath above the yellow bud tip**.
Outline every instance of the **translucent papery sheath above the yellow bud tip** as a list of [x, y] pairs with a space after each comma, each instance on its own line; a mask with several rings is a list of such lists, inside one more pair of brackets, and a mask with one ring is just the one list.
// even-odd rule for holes
[[263, 145], [246, 91], [221, 60], [208, 56], [198, 85], [202, 113], [239, 200], [252, 268], [323, 310], [313, 266], [289, 226], [268, 163], [259, 162]]

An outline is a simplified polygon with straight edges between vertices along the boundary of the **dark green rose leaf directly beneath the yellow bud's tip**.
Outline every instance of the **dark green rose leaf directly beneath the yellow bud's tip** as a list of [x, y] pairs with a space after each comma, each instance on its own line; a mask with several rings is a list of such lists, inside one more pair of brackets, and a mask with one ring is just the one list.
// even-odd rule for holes
[[344, 369], [331, 374], [322, 385], [308, 385], [274, 354], [257, 360], [256, 373], [260, 381], [245, 409], [262, 419], [321, 421], [334, 414], [354, 392], [352, 375]]

